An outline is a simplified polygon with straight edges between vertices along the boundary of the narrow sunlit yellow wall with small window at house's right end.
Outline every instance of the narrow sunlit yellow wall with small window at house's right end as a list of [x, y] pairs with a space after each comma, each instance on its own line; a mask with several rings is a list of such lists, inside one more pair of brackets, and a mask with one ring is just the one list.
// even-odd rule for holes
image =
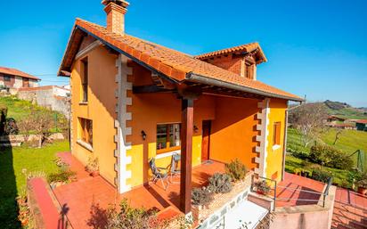
[[[282, 157], [283, 157], [283, 144], [284, 144], [284, 121], [285, 110], [287, 109], [287, 101], [280, 99], [271, 99], [269, 102], [269, 135], [267, 137], [267, 157], [266, 157], [266, 170], [265, 174], [268, 178], [275, 180], [281, 180], [282, 169]], [[279, 146], [273, 145], [273, 125], [274, 122], [281, 122], [281, 143]]]

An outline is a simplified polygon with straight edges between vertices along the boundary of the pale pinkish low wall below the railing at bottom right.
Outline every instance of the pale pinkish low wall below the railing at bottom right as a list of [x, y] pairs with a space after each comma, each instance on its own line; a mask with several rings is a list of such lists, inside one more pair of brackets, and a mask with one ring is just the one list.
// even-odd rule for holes
[[276, 208], [271, 229], [330, 229], [334, 209], [336, 187], [330, 186], [329, 195], [322, 208], [322, 198], [318, 204]]

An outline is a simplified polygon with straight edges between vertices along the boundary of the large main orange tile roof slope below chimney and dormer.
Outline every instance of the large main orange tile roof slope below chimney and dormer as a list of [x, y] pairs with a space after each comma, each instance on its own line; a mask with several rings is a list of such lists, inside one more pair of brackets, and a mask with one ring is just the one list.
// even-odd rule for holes
[[[104, 27], [86, 20], [77, 19], [76, 28], [86, 31], [102, 40], [106, 45], [116, 47], [120, 52], [130, 55], [135, 60], [143, 62], [152, 69], [158, 70], [168, 78], [172, 78], [178, 82], [192, 81], [190, 76], [196, 75], [207, 79], [214, 79], [219, 83], [240, 86], [241, 89], [249, 90], [253, 94], [266, 94], [266, 96], [270, 97], [303, 101], [297, 95], [284, 92], [273, 86], [268, 86], [258, 80], [242, 78], [231, 71], [221, 69], [206, 61], [195, 59], [189, 54], [181, 53], [138, 37], [110, 33]], [[80, 35], [75, 36], [80, 37]], [[70, 38], [68, 49], [74, 48], [75, 50], [75, 44], [72, 43], [72, 39], [73, 35]], [[69, 53], [67, 50], [61, 63], [59, 75], [66, 75], [64, 70], [68, 70], [71, 65], [70, 56], [73, 56], [73, 53]], [[66, 66], [67, 63], [69, 66]]]

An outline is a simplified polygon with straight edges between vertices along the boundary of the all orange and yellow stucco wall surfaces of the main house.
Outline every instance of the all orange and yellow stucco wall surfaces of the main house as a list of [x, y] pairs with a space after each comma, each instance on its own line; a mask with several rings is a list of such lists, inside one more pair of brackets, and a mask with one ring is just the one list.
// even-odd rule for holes
[[[97, 47], [86, 54], [89, 66], [88, 103], [80, 104], [81, 101], [81, 59], [74, 61], [71, 74], [72, 86], [72, 153], [80, 161], [86, 164], [90, 155], [98, 157], [100, 161], [100, 173], [111, 184], [114, 184], [116, 172], [114, 165], [116, 158], [114, 150], [116, 143], [114, 135], [116, 129], [114, 120], [116, 117], [115, 89], [117, 84], [115, 76], [117, 68], [115, 61], [117, 56], [107, 52], [103, 47]], [[151, 85], [151, 72], [133, 61], [129, 61], [133, 68], [133, 75], [128, 80], [134, 86]], [[126, 127], [132, 127], [132, 135], [126, 136], [126, 142], [132, 143], [131, 149], [126, 151], [126, 156], [131, 156], [132, 162], [126, 166], [132, 176], [126, 184], [131, 187], [146, 183], [151, 175], [148, 165], [149, 159], [157, 157], [156, 152], [156, 129], [157, 124], [181, 122], [181, 101], [176, 94], [133, 94], [128, 92], [132, 98], [132, 105], [127, 106], [127, 112], [131, 112], [132, 119], [126, 122]], [[238, 99], [213, 95], [201, 95], [194, 101], [194, 125], [198, 130], [192, 137], [192, 166], [198, 166], [201, 162], [201, 132], [202, 121], [212, 120], [210, 139], [210, 159], [229, 162], [231, 159], [241, 159], [248, 168], [255, 168], [255, 141], [256, 125], [259, 121], [256, 114], [258, 100]], [[270, 125], [268, 136], [269, 143], [273, 138], [273, 121], [280, 120], [284, 125], [284, 111], [286, 102], [271, 100], [271, 112], [269, 115]], [[93, 151], [87, 150], [77, 143], [78, 121], [77, 118], [93, 120]], [[146, 133], [143, 140], [141, 132]], [[281, 131], [281, 141], [284, 133]], [[271, 145], [269, 145], [271, 147]], [[269, 150], [269, 149], [268, 149]], [[273, 150], [273, 149], [272, 149]], [[278, 172], [281, 175], [281, 148], [270, 151], [267, 158], [267, 176]], [[171, 157], [157, 159], [157, 166], [166, 167]]]

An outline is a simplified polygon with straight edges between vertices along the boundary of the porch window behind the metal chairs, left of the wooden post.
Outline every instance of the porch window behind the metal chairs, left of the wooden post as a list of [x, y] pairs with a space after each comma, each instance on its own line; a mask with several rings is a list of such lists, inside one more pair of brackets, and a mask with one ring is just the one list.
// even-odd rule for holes
[[180, 124], [157, 125], [157, 153], [180, 149]]

